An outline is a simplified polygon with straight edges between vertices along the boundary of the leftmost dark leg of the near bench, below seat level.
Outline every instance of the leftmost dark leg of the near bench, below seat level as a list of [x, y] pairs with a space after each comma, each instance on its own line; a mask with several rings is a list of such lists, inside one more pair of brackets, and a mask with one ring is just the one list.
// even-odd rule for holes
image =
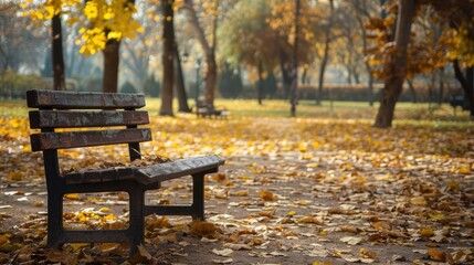
[[60, 248], [63, 244], [63, 194], [51, 190], [48, 192], [48, 247]]

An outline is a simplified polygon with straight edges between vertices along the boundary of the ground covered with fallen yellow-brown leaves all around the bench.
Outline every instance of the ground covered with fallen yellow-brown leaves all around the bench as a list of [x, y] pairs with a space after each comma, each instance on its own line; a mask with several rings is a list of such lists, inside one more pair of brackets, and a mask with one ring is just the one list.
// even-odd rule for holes
[[[45, 243], [41, 153], [28, 120], [0, 117], [0, 263], [347, 264], [474, 262], [472, 126], [230, 117], [151, 118], [146, 157], [218, 153], [206, 188], [207, 222], [149, 216], [131, 258], [119, 244]], [[126, 160], [119, 147], [61, 151], [63, 169]], [[188, 178], [165, 182], [148, 203], [188, 203]], [[65, 226], [127, 226], [126, 195], [69, 194]], [[117, 258], [118, 257], [118, 258]]]

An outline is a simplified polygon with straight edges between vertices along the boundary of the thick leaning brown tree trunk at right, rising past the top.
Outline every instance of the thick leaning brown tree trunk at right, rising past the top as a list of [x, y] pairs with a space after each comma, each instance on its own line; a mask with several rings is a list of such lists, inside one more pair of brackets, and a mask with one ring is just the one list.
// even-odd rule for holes
[[386, 65], [385, 87], [373, 125], [377, 128], [392, 126], [394, 107], [402, 92], [403, 81], [407, 75], [407, 54], [415, 9], [414, 4], [413, 0], [399, 1], [394, 51], [390, 54], [391, 60]]

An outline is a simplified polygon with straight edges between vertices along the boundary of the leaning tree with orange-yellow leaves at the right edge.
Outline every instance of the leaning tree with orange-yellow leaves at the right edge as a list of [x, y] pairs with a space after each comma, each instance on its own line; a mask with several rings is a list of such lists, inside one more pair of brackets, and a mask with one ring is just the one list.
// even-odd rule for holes
[[[443, 28], [435, 43], [428, 38], [431, 33], [420, 38], [420, 32], [410, 30], [413, 21], [426, 12], [426, 7], [434, 7], [436, 12], [432, 15]], [[385, 81], [375, 127], [391, 127], [405, 78], [444, 67], [450, 61], [467, 100], [474, 106], [473, 10], [472, 1], [399, 0], [389, 7], [389, 15], [370, 21], [368, 29], [376, 36], [371, 41], [378, 45], [370, 51], [368, 59], [372, 65], [379, 66], [373, 68], [375, 75]], [[474, 117], [474, 108], [471, 116]]]

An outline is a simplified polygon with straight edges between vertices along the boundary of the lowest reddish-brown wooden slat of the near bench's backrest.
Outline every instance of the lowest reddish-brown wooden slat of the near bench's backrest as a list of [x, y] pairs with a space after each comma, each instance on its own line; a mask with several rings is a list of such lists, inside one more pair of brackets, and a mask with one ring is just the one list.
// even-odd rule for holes
[[66, 149], [151, 140], [150, 129], [42, 132], [30, 136], [31, 150]]

